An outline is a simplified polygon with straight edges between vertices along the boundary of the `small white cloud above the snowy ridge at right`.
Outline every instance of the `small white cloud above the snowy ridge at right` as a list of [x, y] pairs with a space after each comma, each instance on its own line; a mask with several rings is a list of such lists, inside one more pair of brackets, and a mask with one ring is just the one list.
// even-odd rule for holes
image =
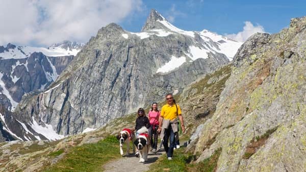
[[226, 37], [244, 42], [247, 40], [248, 37], [255, 33], [266, 33], [264, 27], [261, 25], [253, 26], [250, 21], [245, 21], [245, 25], [243, 27], [243, 31], [238, 32], [237, 34], [225, 34]]

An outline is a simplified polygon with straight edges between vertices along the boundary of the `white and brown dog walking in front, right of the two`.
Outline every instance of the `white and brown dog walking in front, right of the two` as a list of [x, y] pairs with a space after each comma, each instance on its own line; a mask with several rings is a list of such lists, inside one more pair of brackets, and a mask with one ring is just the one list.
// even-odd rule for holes
[[148, 160], [150, 136], [146, 127], [137, 130], [137, 133], [139, 133], [139, 135], [134, 141], [134, 144], [139, 151], [139, 162], [145, 162]]

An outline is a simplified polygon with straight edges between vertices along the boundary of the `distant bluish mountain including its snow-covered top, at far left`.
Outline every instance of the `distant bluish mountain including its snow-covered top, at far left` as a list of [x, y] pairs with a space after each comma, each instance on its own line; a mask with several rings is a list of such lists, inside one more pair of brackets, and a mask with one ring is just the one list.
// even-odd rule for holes
[[14, 110], [24, 93], [54, 82], [83, 44], [63, 41], [48, 48], [0, 46], [0, 104]]

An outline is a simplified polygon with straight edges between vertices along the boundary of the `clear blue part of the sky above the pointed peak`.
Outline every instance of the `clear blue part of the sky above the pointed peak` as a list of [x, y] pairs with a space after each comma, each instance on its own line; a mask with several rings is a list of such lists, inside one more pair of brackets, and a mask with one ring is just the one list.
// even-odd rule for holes
[[261, 25], [268, 33], [289, 26], [290, 19], [306, 16], [306, 1], [143, 1], [145, 9], [121, 22], [129, 31], [139, 32], [150, 9], [164, 17], [173, 16], [172, 24], [184, 30], [207, 29], [218, 34], [242, 30], [245, 21]]

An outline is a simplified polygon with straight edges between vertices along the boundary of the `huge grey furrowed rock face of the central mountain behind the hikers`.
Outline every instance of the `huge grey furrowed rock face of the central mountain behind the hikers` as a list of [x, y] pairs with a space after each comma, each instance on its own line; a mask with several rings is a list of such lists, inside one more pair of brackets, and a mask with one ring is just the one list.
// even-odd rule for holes
[[[126, 32], [114, 23], [101, 28], [48, 90], [20, 103], [16, 118], [31, 122], [29, 116], [34, 116], [58, 134], [77, 134], [161, 100], [168, 92], [181, 91], [228, 63], [224, 54], [215, 51], [192, 59], [190, 47], [207, 50], [197, 33], [194, 37], [170, 31], [142, 34], [147, 36]], [[185, 63], [157, 72], [176, 57]]]

